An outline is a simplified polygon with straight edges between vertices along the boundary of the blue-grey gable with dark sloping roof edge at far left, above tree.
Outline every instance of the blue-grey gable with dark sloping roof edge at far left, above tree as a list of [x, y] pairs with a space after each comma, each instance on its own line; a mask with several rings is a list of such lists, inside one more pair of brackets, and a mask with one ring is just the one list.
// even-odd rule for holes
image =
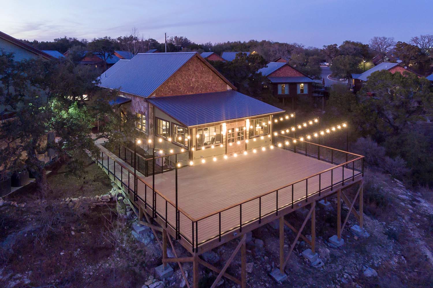
[[43, 59], [54, 59], [50, 54], [47, 54], [35, 47], [19, 41], [6, 33], [0, 32], [0, 50], [6, 53], [13, 53], [16, 61], [36, 59], [42, 57]]

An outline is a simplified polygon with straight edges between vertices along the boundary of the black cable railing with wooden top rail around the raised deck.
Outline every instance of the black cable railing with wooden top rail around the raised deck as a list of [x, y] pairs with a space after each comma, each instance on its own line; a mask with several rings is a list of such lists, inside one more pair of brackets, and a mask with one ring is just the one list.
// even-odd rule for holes
[[[281, 211], [281, 209], [284, 209], [288, 206], [291, 206], [293, 208], [295, 204], [304, 200], [308, 202], [308, 197], [316, 194], [320, 196], [321, 193], [323, 193], [324, 191], [332, 191], [336, 185], [344, 185], [348, 181], [355, 180], [355, 177], [364, 174], [364, 156], [345, 152], [338, 149], [333, 149], [326, 146], [321, 146], [310, 142], [298, 140], [294, 143], [294, 138], [288, 136], [276, 136], [274, 140], [276, 146], [278, 146], [278, 143], [281, 143], [282, 145], [279, 146], [281, 148], [288, 149], [302, 155], [306, 155], [307, 157], [313, 157], [321, 161], [331, 163], [335, 166], [305, 177], [301, 180], [297, 180], [284, 186], [278, 187], [277, 189], [268, 190], [267, 192], [262, 193], [258, 196], [254, 196], [242, 202], [235, 203], [231, 206], [220, 209], [216, 212], [212, 212], [208, 215], [204, 215], [200, 218], [193, 218], [179, 207], [176, 208], [176, 205], [174, 203], [172, 203], [169, 199], [163, 196], [162, 193], [160, 193], [158, 190], [152, 188], [152, 185], [146, 183], [141, 177], [134, 178], [133, 172], [125, 168], [123, 165], [120, 165], [120, 163], [115, 160], [115, 155], [113, 155], [114, 157], [109, 156], [109, 152], [103, 147], [100, 148], [101, 154], [99, 155], [99, 159], [97, 159], [97, 162], [101, 164], [103, 169], [106, 169], [109, 174], [113, 175], [114, 177], [116, 177], [117, 180], [121, 181], [123, 187], [127, 188], [129, 193], [134, 194], [135, 199], [141, 201], [146, 207], [152, 209], [153, 217], [161, 218], [165, 222], [166, 227], [170, 226], [171, 228], [173, 228], [174, 231], [176, 231], [176, 233], [178, 234], [178, 237], [184, 238], [189, 244], [191, 244], [193, 250], [195, 249], [196, 251], [198, 251], [198, 247], [200, 245], [205, 244], [216, 238], [221, 241], [221, 237], [230, 231], [236, 229], [242, 231], [242, 226], [245, 226], [250, 222], [256, 220], [259, 220], [259, 222], [261, 222], [263, 217], [271, 215], [272, 213], [278, 215], [278, 212]], [[106, 152], [104, 153], [103, 150], [105, 150]], [[120, 153], [120, 156], [122, 155], [123, 154]], [[174, 161], [172, 158], [173, 156]], [[172, 165], [172, 163], [176, 163], [176, 157], [178, 162], [181, 161], [182, 166], [186, 166], [188, 164], [187, 156], [185, 157], [183, 153], [178, 153], [177, 155], [164, 155], [155, 157], [155, 163], [157, 162], [157, 159], [161, 159], [160, 161], [163, 162], [162, 165], [155, 164], [155, 174], [162, 172], [162, 170], [160, 170], [161, 172], [157, 172], [158, 166], [167, 166], [170, 167], [171, 170], [175, 169], [176, 165]], [[113, 161], [112, 164], [116, 163], [117, 165], [120, 165], [121, 170], [127, 170], [128, 182], [124, 182], [125, 176], [117, 175], [116, 172], [118, 171], [116, 171], [115, 168], [113, 169], [116, 172], [113, 173], [112, 167], [108, 163], [103, 163], [104, 160], [110, 161], [109, 159]], [[146, 169], [148, 169], [146, 171], [152, 171], [152, 158], [144, 160], [151, 161], [150, 164], [146, 167]], [[147, 172], [147, 174], [149, 175], [149, 172]], [[150, 175], [151, 174], [152, 173], [150, 173]], [[121, 173], [120, 175], [123, 175], [123, 173]], [[129, 178], [134, 178], [136, 179], [135, 181], [141, 183], [139, 185], [137, 184], [137, 187], [139, 187], [141, 190], [145, 190], [144, 199], [142, 196], [139, 196], [138, 193], [136, 193], [134, 187], [131, 187], [131, 185], [129, 184]], [[301, 193], [303, 193], [301, 194], [301, 196], [299, 193], [300, 191]], [[162, 202], [163, 205], [160, 204], [158, 206], [156, 205], [156, 202]], [[175, 214], [175, 216], [173, 216], [173, 213]], [[256, 214], [252, 215], [252, 213]], [[233, 218], [239, 219], [237, 225], [232, 223], [233, 220], [231, 219]], [[207, 235], [210, 236], [203, 239], [204, 237], [200, 237], [199, 235], [200, 231], [207, 232]], [[188, 235], [186, 235], [185, 233], [187, 233]]]

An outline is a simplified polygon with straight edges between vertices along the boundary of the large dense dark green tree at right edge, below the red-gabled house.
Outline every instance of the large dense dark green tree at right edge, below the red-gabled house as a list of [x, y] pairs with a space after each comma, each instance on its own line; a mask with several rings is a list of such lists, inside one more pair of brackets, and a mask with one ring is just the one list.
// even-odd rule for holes
[[[367, 94], [368, 93], [368, 94]], [[368, 95], [374, 95], [369, 97]], [[414, 73], [391, 73], [381, 70], [372, 73], [359, 92], [361, 101], [357, 119], [369, 127], [376, 141], [396, 136], [419, 121], [433, 106], [430, 82]]]

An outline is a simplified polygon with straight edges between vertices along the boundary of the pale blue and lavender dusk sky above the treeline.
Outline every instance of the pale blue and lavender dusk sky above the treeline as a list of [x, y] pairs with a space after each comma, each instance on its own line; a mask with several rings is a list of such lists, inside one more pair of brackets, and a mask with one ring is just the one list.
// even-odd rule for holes
[[409, 41], [433, 34], [431, 0], [7, 1], [0, 31], [40, 41], [68, 36], [116, 38], [133, 27], [145, 38], [186, 36], [197, 43], [271, 40], [322, 47], [373, 36]]

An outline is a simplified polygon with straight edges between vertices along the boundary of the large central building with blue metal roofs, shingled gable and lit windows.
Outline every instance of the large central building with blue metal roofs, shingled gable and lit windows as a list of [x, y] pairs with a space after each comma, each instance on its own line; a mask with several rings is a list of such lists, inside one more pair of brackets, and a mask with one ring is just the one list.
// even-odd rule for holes
[[270, 145], [272, 116], [284, 112], [237, 92], [197, 52], [137, 54], [104, 72], [100, 86], [131, 99], [149, 154], [155, 143], [164, 153], [183, 148], [191, 161]]

